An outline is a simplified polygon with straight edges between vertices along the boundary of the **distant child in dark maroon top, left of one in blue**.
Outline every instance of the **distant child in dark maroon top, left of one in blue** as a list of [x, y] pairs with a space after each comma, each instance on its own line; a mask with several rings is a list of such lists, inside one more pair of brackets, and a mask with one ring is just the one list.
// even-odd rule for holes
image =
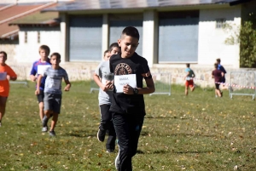
[[214, 78], [215, 83], [215, 97], [222, 97], [222, 92], [219, 89], [219, 84], [222, 82], [224, 77], [224, 72], [218, 70], [218, 64], [214, 64], [214, 70], [212, 71], [212, 78]]

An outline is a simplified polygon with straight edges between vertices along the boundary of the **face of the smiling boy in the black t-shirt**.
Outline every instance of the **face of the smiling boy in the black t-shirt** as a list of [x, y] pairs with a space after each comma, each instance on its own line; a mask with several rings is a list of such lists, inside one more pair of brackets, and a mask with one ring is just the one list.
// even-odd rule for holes
[[122, 35], [122, 37], [118, 40], [118, 43], [119, 47], [121, 47], [121, 57], [130, 58], [138, 46], [138, 39], [135, 37]]

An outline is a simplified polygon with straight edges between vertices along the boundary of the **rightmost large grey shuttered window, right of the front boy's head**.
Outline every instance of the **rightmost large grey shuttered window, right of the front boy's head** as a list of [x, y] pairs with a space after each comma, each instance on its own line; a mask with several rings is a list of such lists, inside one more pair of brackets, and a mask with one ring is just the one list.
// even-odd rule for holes
[[159, 14], [159, 63], [197, 62], [198, 11]]

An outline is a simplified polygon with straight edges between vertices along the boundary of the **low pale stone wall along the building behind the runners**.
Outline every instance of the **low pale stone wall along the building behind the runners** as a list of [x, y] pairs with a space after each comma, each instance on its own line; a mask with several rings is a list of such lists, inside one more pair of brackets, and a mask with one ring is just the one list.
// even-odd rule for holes
[[[73, 63], [66, 62], [61, 65], [68, 74], [70, 81], [86, 81], [90, 80], [92, 76], [92, 71], [96, 69], [98, 65], [97, 62], [91, 63]], [[29, 75], [31, 71], [32, 64], [22, 64], [22, 65], [10, 65], [18, 74], [18, 80], [29, 80]], [[212, 67], [191, 67], [195, 72], [195, 84], [201, 87], [214, 87], [214, 80], [212, 78]], [[230, 83], [230, 72], [231, 71], [254, 71], [256, 74], [256, 69], [233, 69], [225, 68], [227, 71], [226, 83]], [[176, 67], [170, 65], [169, 67], [152, 67], [151, 72], [153, 75], [158, 73], [170, 73], [172, 84], [182, 84], [184, 83], [185, 67]], [[160, 79], [165, 79], [165, 75]], [[255, 78], [256, 79], [256, 78]]]

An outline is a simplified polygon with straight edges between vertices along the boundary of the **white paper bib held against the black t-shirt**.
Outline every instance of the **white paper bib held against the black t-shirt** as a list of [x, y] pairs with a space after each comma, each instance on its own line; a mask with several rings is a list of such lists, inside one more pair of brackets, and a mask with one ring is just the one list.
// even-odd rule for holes
[[116, 93], [123, 93], [123, 87], [128, 84], [132, 88], [137, 88], [136, 74], [114, 76], [114, 87]]

